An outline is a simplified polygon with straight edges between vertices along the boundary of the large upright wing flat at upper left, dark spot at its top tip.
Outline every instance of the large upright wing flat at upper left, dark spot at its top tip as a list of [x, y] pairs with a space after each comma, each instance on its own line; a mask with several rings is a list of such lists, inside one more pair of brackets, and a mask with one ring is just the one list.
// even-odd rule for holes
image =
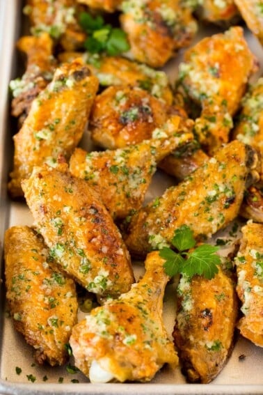
[[97, 77], [80, 60], [56, 69], [15, 134], [14, 169], [8, 185], [13, 196], [23, 196], [21, 180], [30, 176], [33, 166], [45, 162], [56, 166], [58, 155], [69, 159], [84, 132], [97, 88]]

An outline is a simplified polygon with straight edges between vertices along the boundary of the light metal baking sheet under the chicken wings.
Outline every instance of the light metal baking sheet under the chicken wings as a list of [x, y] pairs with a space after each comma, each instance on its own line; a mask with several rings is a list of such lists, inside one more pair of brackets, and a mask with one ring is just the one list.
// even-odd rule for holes
[[[22, 1], [0, 0], [0, 252], [3, 254], [3, 234], [5, 229], [15, 224], [31, 225], [33, 219], [24, 203], [11, 202], [6, 193], [8, 172], [13, 162], [13, 145], [11, 136], [15, 132], [15, 125], [8, 116], [8, 83], [17, 77], [17, 61], [15, 53], [15, 40], [19, 36], [19, 21], [21, 20]], [[218, 28], [202, 29], [194, 42], [202, 36], [216, 33]], [[260, 60], [260, 71], [256, 79], [263, 72], [263, 50], [259, 42], [246, 32], [250, 48]], [[193, 42], [193, 43], [194, 43]], [[173, 82], [177, 75], [177, 64], [182, 60], [182, 54], [166, 66], [166, 71]], [[234, 72], [234, 70], [233, 70]], [[85, 139], [82, 142], [86, 145]], [[164, 178], [162, 173], [157, 173], [148, 194], [147, 200], [161, 192], [172, 183], [171, 178]], [[136, 265], [136, 277], [142, 273], [142, 268]], [[1, 261], [1, 279], [3, 279], [3, 261]], [[1, 286], [0, 299], [0, 394], [263, 394], [263, 350], [254, 346], [244, 338], [239, 338], [232, 357], [223, 371], [212, 384], [189, 385], [186, 384], [180, 369], [171, 369], [165, 366], [152, 382], [147, 384], [106, 384], [91, 385], [82, 374], [69, 374], [65, 367], [51, 368], [35, 366], [33, 349], [28, 346], [22, 335], [13, 329], [12, 320], [8, 317], [5, 305], [4, 286]], [[175, 284], [169, 284], [164, 300], [164, 320], [168, 332], [173, 330], [175, 318], [175, 303], [173, 295]], [[242, 361], [239, 355], [246, 355]], [[72, 360], [73, 364], [74, 361]], [[15, 368], [19, 366], [22, 373], [17, 375]], [[27, 375], [35, 376], [34, 383], [29, 382]], [[43, 382], [43, 377], [48, 380]], [[62, 383], [58, 383], [63, 378]], [[79, 380], [72, 383], [71, 380]]]

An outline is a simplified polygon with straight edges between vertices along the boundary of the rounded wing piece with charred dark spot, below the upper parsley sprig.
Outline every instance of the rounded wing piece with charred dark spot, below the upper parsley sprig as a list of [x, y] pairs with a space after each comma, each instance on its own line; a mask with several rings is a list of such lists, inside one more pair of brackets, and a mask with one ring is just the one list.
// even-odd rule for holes
[[95, 144], [115, 149], [150, 139], [170, 107], [140, 88], [110, 86], [95, 98], [89, 129]]

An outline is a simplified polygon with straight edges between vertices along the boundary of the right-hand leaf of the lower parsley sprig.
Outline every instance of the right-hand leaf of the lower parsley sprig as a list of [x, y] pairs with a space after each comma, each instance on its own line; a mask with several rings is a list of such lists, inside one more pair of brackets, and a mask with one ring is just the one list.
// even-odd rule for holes
[[213, 245], [200, 245], [184, 261], [182, 273], [190, 278], [199, 274], [205, 279], [212, 279], [218, 273], [217, 265], [221, 263], [220, 256], [215, 254], [217, 250], [218, 247]]

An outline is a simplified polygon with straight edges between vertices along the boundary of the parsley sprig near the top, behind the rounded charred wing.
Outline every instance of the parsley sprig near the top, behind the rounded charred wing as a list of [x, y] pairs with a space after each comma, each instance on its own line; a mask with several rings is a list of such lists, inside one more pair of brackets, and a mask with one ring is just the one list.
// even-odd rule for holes
[[105, 52], [110, 56], [115, 56], [129, 50], [130, 46], [125, 31], [105, 24], [101, 15], [93, 17], [88, 13], [81, 13], [79, 23], [88, 33], [84, 47], [91, 54]]

